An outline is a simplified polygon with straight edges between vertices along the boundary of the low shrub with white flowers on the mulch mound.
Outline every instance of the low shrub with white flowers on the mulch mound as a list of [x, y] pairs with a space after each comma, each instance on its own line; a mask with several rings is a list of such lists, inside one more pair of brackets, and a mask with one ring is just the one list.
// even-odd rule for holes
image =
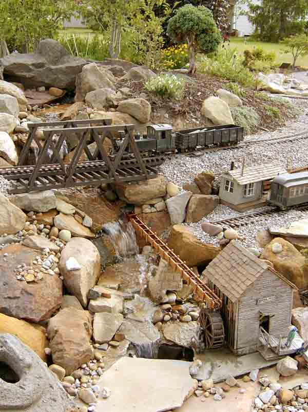
[[149, 79], [144, 87], [159, 96], [180, 99], [183, 95], [185, 80], [176, 75], [160, 75]]

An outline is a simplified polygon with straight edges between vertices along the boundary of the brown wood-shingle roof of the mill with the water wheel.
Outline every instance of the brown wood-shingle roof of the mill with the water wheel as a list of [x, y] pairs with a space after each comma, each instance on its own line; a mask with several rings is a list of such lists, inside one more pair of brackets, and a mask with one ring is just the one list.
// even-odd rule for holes
[[269, 270], [291, 288], [288, 281], [265, 260], [257, 258], [239, 242], [231, 241], [203, 271], [203, 276], [213, 282], [232, 302], [237, 301], [260, 275]]

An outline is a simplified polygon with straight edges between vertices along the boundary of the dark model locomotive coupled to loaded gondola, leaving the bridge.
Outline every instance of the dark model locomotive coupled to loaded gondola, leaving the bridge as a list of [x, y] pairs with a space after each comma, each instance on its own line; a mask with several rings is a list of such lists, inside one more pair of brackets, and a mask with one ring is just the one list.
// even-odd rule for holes
[[[122, 141], [124, 135], [121, 136]], [[168, 152], [187, 152], [197, 148], [237, 145], [244, 138], [244, 129], [234, 124], [225, 126], [199, 127], [173, 131], [170, 124], [152, 124], [143, 136], [136, 134], [135, 140], [140, 152], [148, 156]], [[118, 143], [121, 147], [121, 141]], [[131, 152], [131, 148], [128, 148]]]

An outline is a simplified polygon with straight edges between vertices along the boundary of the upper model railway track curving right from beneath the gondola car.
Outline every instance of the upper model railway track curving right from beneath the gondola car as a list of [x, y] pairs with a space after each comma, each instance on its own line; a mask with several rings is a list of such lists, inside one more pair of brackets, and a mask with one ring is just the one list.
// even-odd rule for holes
[[294, 133], [292, 135], [285, 135], [280, 137], [271, 137], [269, 139], [252, 139], [252, 140], [243, 140], [239, 144], [229, 145], [229, 146], [216, 146], [216, 147], [209, 147], [209, 148], [202, 148], [198, 147], [194, 150], [194, 152], [187, 152], [184, 153], [187, 156], [202, 156], [203, 153], [208, 152], [218, 152], [220, 150], [232, 150], [232, 149], [243, 149], [249, 145], [259, 145], [259, 144], [275, 144], [275, 143], [283, 143], [288, 141], [294, 140], [305, 140], [308, 138], [308, 130], [304, 130], [302, 132]]

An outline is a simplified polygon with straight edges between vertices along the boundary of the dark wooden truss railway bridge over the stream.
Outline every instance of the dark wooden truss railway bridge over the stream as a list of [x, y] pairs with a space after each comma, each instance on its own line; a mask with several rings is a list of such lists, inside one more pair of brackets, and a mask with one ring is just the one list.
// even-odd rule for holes
[[[142, 157], [133, 136], [134, 125], [112, 126], [110, 123], [109, 119], [29, 123], [29, 136], [17, 166], [0, 169], [0, 175], [11, 183], [9, 192], [25, 193], [156, 177], [155, 167], [162, 164], [164, 157]], [[37, 130], [42, 130], [44, 140], [37, 138]], [[109, 139], [115, 148], [114, 134], [119, 132], [124, 137], [117, 151], [110, 156], [104, 142]], [[78, 136], [78, 144], [70, 162], [66, 163], [61, 149], [72, 134]], [[87, 146], [90, 142], [96, 143], [94, 152]], [[26, 166], [31, 151], [35, 152], [36, 162]], [[85, 154], [87, 160], [81, 161]]]

